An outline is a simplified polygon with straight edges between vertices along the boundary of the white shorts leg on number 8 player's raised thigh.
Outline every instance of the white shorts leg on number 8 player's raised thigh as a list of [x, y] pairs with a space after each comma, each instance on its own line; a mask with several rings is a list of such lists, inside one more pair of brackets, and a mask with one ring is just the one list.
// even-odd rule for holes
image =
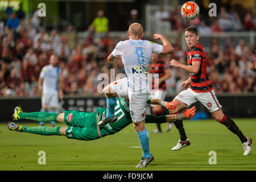
[[128, 78], [121, 78], [110, 83], [110, 87], [118, 97], [128, 97]]

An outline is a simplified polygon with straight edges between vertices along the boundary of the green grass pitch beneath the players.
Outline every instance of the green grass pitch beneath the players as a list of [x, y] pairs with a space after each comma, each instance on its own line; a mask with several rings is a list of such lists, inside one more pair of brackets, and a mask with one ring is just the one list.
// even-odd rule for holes
[[[256, 119], [234, 119], [246, 137], [256, 140]], [[16, 122], [20, 123], [21, 122]], [[243, 156], [239, 138], [213, 119], [184, 122], [191, 145], [171, 151], [179, 139], [175, 126], [168, 133], [151, 134], [155, 124], [147, 124], [154, 161], [146, 168], [135, 168], [142, 149], [133, 125], [98, 140], [81, 141], [59, 136], [42, 136], [9, 131], [0, 124], [0, 170], [255, 170], [255, 144]], [[24, 123], [35, 127], [39, 123]], [[46, 123], [45, 126], [51, 126]], [[57, 123], [56, 126], [64, 126]], [[165, 131], [166, 124], [162, 124]], [[46, 152], [46, 164], [39, 165], [39, 151]], [[210, 165], [209, 151], [216, 151], [217, 164]]]

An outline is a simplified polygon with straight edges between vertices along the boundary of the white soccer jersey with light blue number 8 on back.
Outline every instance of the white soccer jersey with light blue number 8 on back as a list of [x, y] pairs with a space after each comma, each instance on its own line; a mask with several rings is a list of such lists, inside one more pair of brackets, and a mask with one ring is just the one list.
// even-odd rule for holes
[[122, 56], [122, 63], [129, 80], [129, 89], [137, 92], [148, 89], [147, 73], [151, 54], [161, 53], [163, 46], [148, 40], [125, 40], [115, 46], [112, 55]]

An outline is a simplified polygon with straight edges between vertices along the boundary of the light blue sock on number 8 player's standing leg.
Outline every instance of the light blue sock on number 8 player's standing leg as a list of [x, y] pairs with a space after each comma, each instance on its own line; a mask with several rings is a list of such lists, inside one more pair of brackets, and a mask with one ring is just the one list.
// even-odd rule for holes
[[137, 135], [139, 137], [139, 143], [141, 143], [143, 158], [150, 158], [151, 152], [149, 149], [149, 136], [147, 129], [137, 132]]

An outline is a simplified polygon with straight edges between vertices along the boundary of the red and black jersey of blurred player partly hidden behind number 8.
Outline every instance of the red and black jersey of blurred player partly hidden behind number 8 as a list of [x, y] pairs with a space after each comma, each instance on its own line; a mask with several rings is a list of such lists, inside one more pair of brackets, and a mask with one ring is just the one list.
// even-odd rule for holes
[[[170, 67], [164, 62], [162, 59], [158, 59], [155, 63], [151, 62], [150, 63], [150, 70], [149, 73], [152, 73], [152, 89], [160, 89], [160, 90], [166, 90], [166, 82], [163, 81], [162, 83], [155, 85], [155, 80], [154, 77], [156, 77], [155, 74], [158, 74], [158, 77], [163, 77], [164, 76], [164, 71], [166, 69], [169, 69]], [[154, 74], [153, 74], [154, 73]], [[154, 76], [155, 75], [155, 76]]]

